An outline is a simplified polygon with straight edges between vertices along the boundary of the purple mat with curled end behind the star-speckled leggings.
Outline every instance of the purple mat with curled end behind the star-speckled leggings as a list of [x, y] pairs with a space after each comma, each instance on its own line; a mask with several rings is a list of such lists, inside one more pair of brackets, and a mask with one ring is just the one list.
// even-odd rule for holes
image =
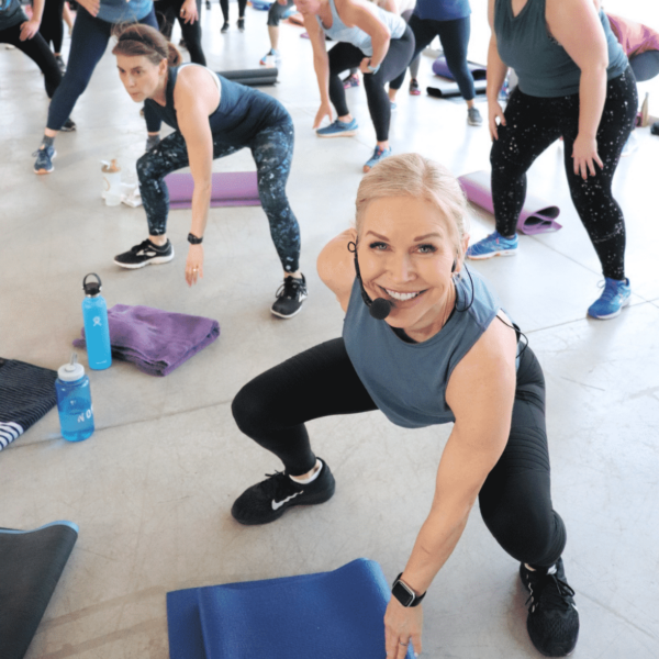
[[[467, 199], [479, 205], [481, 209], [494, 214], [494, 205], [492, 204], [492, 189], [489, 171], [473, 171], [458, 177], [460, 186], [467, 196]], [[546, 201], [526, 194], [524, 208], [517, 220], [517, 231], [529, 236], [538, 233], [547, 233], [558, 231], [561, 225], [556, 222], [560, 209], [556, 205], [550, 205]]]

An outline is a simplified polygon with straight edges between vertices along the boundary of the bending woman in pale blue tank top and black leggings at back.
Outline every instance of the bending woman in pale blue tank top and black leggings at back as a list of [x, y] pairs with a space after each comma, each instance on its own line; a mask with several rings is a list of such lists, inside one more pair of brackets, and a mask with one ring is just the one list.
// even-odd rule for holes
[[[365, 0], [297, 0], [295, 4], [304, 16], [321, 91], [321, 108], [313, 123], [319, 137], [357, 134], [359, 126], [348, 110], [340, 74], [354, 67], [364, 74], [377, 138], [373, 155], [364, 165], [364, 171], [369, 171], [391, 154], [391, 102], [384, 85], [407, 68], [414, 54], [414, 35], [398, 15], [393, 0], [388, 0], [391, 11]], [[325, 35], [338, 42], [330, 53], [325, 49]], [[331, 102], [338, 119], [320, 129], [325, 116], [332, 121]]]

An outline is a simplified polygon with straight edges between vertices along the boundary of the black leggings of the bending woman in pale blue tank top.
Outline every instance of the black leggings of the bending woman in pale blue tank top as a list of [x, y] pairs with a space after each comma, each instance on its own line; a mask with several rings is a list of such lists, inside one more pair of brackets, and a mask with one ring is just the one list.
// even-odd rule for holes
[[[404, 72], [414, 53], [414, 35], [409, 25], [400, 38], [389, 42], [387, 56], [380, 64], [377, 74], [364, 76], [364, 89], [368, 101], [368, 111], [376, 129], [378, 142], [389, 139], [389, 124], [391, 122], [391, 101], [384, 91], [384, 85]], [[330, 100], [338, 116], [349, 113], [346, 103], [346, 90], [340, 79], [340, 74], [347, 69], [358, 67], [367, 57], [357, 46], [345, 42], [337, 43], [327, 53], [330, 57]]]

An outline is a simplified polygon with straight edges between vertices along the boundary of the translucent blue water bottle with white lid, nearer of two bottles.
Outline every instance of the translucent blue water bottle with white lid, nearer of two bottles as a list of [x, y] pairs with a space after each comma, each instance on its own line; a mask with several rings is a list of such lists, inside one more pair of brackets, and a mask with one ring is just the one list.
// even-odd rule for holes
[[89, 378], [74, 353], [69, 364], [57, 369], [55, 380], [57, 411], [62, 436], [68, 442], [82, 442], [93, 433], [93, 410]]

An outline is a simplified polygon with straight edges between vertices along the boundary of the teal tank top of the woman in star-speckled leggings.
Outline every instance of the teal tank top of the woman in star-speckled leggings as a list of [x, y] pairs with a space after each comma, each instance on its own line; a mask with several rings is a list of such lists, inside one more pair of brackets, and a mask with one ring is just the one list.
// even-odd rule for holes
[[[606, 79], [613, 80], [627, 68], [627, 56], [602, 10], [600, 21], [608, 46]], [[579, 93], [581, 69], [549, 34], [545, 0], [528, 0], [516, 16], [511, 0], [495, 0], [494, 33], [499, 55], [515, 69], [521, 91], [543, 98]]]

